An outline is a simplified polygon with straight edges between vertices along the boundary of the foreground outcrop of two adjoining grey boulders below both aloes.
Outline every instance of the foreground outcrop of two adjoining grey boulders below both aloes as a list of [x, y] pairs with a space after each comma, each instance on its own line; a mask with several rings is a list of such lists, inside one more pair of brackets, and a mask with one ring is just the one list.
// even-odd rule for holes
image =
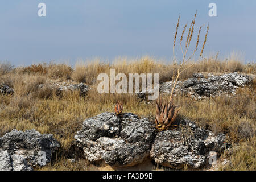
[[85, 119], [75, 135], [89, 162], [127, 167], [151, 158], [156, 163], [181, 168], [207, 164], [210, 151], [224, 150], [225, 135], [214, 135], [188, 119], [179, 119], [177, 130], [156, 133], [154, 123], [132, 113], [101, 113]]

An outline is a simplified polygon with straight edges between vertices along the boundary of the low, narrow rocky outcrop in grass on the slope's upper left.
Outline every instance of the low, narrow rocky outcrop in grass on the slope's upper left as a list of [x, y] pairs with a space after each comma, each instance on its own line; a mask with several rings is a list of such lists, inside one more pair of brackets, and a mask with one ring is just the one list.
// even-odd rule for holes
[[68, 90], [79, 90], [79, 95], [81, 97], [86, 96], [87, 92], [90, 90], [89, 85], [86, 85], [84, 83], [75, 83], [72, 81], [67, 81], [67, 82], [51, 82], [51, 81], [46, 81], [45, 84], [40, 84], [39, 89], [44, 89], [44, 88], [50, 88], [56, 90], [57, 93], [61, 93], [64, 91]]

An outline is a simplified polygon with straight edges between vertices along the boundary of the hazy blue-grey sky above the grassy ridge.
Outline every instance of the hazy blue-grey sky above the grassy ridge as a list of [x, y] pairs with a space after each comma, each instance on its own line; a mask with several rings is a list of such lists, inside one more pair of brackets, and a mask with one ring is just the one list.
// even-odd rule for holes
[[[46, 17], [38, 16], [39, 3], [46, 4]], [[209, 3], [216, 3], [216, 17], [208, 14]], [[0, 0], [0, 61], [73, 65], [144, 55], [171, 60], [177, 18], [182, 28], [196, 10], [195, 31], [204, 25], [201, 42], [210, 24], [205, 57], [236, 52], [255, 62], [255, 0]], [[195, 43], [196, 35], [191, 47]]]

